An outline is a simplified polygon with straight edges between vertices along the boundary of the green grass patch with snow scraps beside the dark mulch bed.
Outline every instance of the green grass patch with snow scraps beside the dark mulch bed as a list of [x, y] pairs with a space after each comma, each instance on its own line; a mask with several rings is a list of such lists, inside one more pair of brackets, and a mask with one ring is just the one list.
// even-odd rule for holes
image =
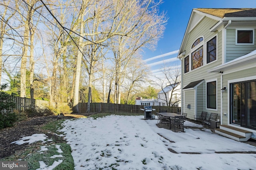
[[[47, 133], [56, 133], [58, 135], [62, 134], [58, 130], [62, 128], [61, 124], [64, 120], [51, 121], [46, 123], [41, 129]], [[40, 151], [41, 146], [46, 146], [47, 150]], [[62, 153], [58, 152], [61, 149]], [[39, 152], [40, 151], [40, 152]], [[74, 160], [71, 155], [71, 147], [66, 144], [66, 141], [62, 137], [55, 136], [53, 137], [52, 142], [42, 143], [36, 142], [32, 143], [25, 150], [20, 150], [14, 155], [6, 157], [2, 160], [23, 160], [28, 161], [28, 169], [37, 169], [40, 168], [39, 161], [43, 161], [47, 166], [51, 166], [54, 161], [62, 160], [62, 162], [54, 168], [54, 170], [74, 170]], [[51, 156], [53, 156], [51, 158]], [[62, 156], [62, 157], [58, 157]]]

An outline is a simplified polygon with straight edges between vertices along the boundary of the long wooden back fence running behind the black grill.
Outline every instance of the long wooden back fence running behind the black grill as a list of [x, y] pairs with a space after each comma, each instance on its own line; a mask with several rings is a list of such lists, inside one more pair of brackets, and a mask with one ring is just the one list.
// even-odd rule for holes
[[[169, 106], [152, 106], [153, 109], [166, 110], [167, 112], [177, 113], [180, 107]], [[80, 113], [86, 113], [87, 103], [79, 103]], [[144, 114], [144, 106], [141, 105], [128, 105], [128, 104], [112, 104], [112, 103], [91, 103], [90, 112], [93, 113], [119, 113], [119, 114]], [[155, 111], [153, 111], [155, 113]]]

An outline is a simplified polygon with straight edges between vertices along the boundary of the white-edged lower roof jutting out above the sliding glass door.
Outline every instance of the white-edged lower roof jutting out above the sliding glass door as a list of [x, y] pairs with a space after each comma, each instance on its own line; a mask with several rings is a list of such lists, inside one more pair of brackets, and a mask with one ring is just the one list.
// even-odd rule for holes
[[228, 70], [230, 68], [236, 68], [239, 65], [246, 65], [246, 67], [244, 68], [248, 68], [250, 66], [250, 64], [252, 64], [252, 66], [255, 66], [255, 62], [256, 62], [256, 50], [243, 55], [241, 57], [238, 57], [232, 61], [229, 61], [227, 63], [224, 63], [220, 66], [216, 66], [215, 68], [208, 70], [208, 72], [220, 72], [220, 71], [225, 71]]

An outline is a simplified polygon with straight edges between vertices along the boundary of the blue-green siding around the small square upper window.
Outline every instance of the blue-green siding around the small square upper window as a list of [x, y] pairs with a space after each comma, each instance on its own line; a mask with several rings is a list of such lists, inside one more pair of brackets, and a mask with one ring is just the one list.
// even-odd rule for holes
[[254, 45], [236, 45], [236, 29], [226, 30], [226, 62], [232, 61], [256, 49], [254, 29]]

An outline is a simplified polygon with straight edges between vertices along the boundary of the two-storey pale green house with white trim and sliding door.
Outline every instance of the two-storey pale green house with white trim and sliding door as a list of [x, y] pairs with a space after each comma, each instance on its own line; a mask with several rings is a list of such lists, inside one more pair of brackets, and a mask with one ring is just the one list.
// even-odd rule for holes
[[192, 10], [178, 53], [188, 118], [218, 113], [221, 128], [256, 138], [255, 35], [256, 8]]

